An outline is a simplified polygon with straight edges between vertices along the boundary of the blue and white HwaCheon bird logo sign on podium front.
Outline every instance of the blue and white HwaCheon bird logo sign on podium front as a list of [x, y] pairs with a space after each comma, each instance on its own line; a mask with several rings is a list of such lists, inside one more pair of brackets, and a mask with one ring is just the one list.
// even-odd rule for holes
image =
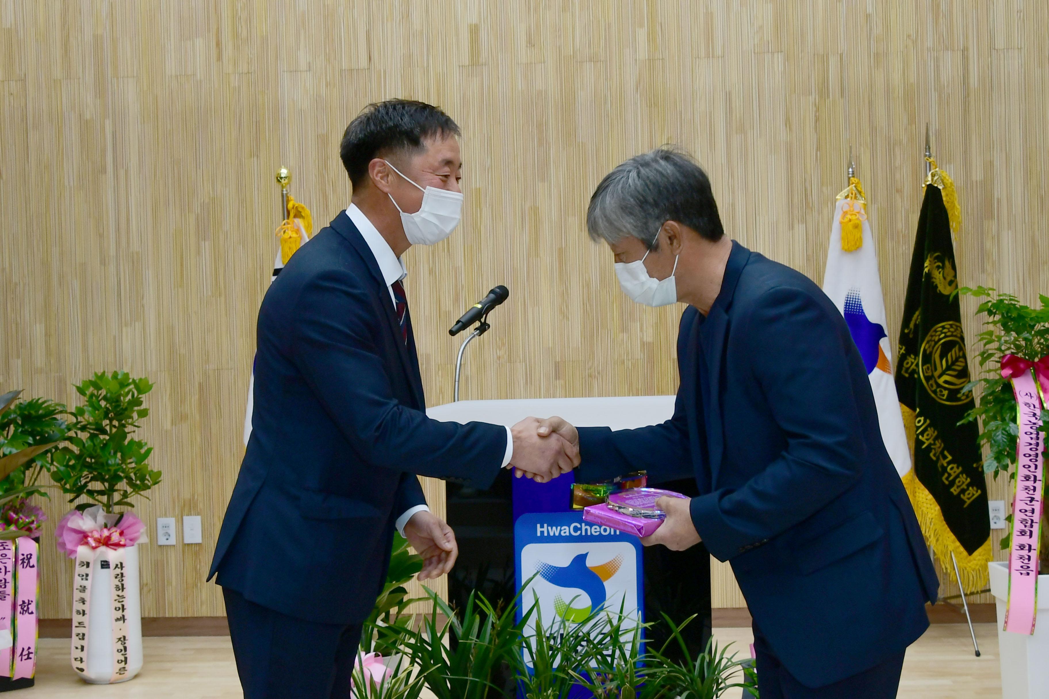
[[[520, 607], [538, 604], [549, 630], [579, 624], [601, 610], [618, 615], [622, 609], [633, 619], [624, 630], [641, 619], [642, 547], [637, 537], [583, 522], [579, 511], [534, 512], [514, 525], [514, 548]], [[526, 636], [535, 635], [535, 618], [533, 613]]]

